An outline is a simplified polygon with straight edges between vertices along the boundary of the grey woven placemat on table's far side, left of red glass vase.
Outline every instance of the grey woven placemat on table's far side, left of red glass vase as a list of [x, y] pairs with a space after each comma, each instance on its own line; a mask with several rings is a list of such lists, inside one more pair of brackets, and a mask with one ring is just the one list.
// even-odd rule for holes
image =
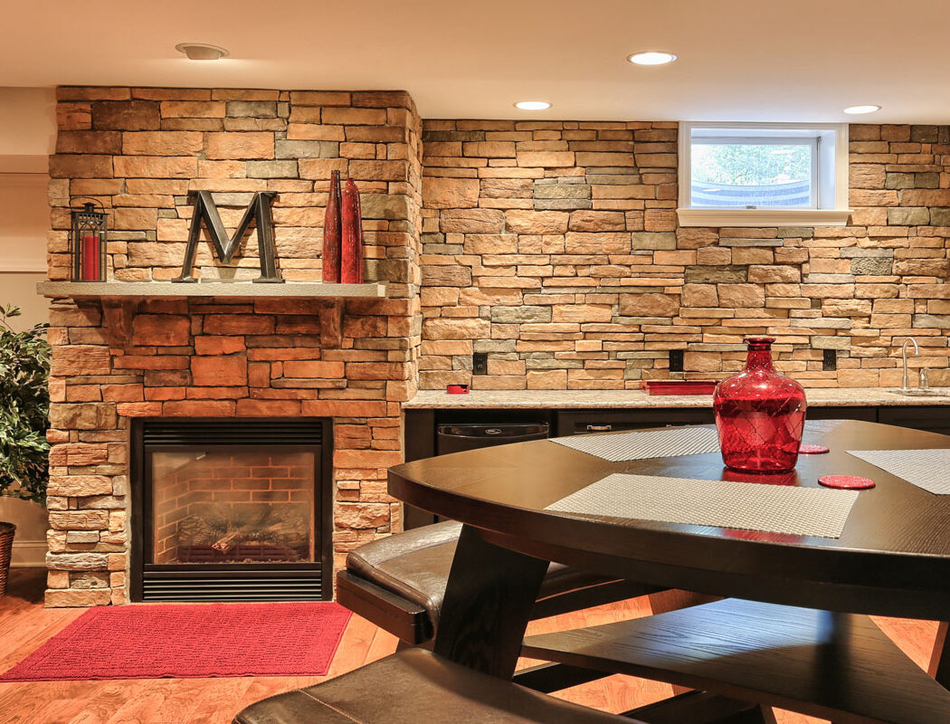
[[718, 452], [719, 436], [712, 428], [651, 429], [613, 435], [553, 437], [552, 443], [594, 455], [611, 463], [675, 455]]

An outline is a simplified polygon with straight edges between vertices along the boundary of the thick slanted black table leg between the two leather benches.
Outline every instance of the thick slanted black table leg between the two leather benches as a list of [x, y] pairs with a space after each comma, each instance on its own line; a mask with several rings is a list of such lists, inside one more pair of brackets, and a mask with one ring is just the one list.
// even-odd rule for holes
[[492, 676], [510, 678], [547, 561], [485, 543], [462, 528], [433, 651]]

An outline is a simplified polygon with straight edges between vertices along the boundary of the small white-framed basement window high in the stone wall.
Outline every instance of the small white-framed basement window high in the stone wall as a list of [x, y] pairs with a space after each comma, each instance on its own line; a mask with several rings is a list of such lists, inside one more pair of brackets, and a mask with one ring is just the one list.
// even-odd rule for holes
[[681, 226], [844, 226], [847, 124], [679, 126]]

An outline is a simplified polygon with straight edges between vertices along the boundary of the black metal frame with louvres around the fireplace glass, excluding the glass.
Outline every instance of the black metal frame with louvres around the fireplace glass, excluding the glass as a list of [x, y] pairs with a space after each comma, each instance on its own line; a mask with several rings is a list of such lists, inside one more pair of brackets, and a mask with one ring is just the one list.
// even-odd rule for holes
[[[232, 442], [221, 442], [222, 426]], [[297, 428], [289, 432], [288, 426]], [[307, 439], [308, 434], [311, 439]], [[314, 562], [148, 562], [152, 544], [149, 449], [234, 448], [240, 438], [267, 448], [314, 452]], [[291, 439], [292, 442], [287, 442]], [[255, 444], [248, 440], [246, 444]], [[140, 417], [129, 434], [129, 599], [140, 601], [333, 600], [333, 421], [323, 417]]]

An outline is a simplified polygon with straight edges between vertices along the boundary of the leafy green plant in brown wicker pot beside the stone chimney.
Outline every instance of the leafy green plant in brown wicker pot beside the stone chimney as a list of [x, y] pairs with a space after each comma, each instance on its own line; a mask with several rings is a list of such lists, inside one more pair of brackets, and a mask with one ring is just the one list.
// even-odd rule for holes
[[[0, 496], [40, 505], [49, 479], [49, 344], [46, 324], [10, 327], [19, 307], [0, 307]], [[0, 597], [6, 593], [16, 526], [0, 521]]]

